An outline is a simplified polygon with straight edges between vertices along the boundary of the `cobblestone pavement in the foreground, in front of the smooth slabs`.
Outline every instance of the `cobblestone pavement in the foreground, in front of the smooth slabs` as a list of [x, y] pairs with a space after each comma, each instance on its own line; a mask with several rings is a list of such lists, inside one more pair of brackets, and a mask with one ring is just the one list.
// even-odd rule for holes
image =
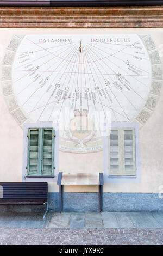
[[163, 229], [0, 228], [0, 245], [163, 245]]

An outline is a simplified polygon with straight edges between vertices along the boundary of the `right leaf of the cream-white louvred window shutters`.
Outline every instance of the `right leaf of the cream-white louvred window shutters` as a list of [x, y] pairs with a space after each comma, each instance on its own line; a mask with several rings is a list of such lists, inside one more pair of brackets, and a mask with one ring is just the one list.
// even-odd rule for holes
[[122, 130], [123, 175], [136, 175], [135, 129]]

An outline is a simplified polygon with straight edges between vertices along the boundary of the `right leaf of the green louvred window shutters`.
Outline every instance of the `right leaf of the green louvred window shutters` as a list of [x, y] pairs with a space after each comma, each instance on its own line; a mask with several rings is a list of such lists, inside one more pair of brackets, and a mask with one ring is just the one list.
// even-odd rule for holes
[[43, 129], [42, 175], [54, 174], [54, 130]]

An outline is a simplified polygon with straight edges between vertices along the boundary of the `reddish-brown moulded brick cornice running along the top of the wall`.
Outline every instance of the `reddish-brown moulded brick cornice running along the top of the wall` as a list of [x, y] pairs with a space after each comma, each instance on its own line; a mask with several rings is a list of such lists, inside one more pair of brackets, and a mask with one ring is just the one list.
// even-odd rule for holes
[[163, 7], [0, 7], [1, 28], [163, 27]]

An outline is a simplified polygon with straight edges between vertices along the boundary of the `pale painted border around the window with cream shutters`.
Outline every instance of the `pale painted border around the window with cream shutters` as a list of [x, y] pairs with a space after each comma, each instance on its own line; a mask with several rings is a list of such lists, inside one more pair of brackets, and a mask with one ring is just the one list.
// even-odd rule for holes
[[106, 135], [109, 133], [109, 126], [107, 132], [103, 137], [103, 170], [104, 170], [104, 182], [106, 183], [139, 183], [140, 182], [140, 133], [139, 123], [111, 123], [113, 129], [135, 129], [135, 161], [136, 161], [136, 175], [109, 175], [109, 137]]

